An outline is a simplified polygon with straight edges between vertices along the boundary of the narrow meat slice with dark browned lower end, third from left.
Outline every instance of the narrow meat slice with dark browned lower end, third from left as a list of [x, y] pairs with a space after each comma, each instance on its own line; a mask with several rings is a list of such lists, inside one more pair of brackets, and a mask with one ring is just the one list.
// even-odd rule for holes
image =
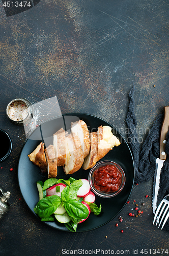
[[66, 161], [66, 140], [65, 130], [61, 128], [57, 133], [53, 134], [53, 146], [57, 166], [63, 166]]

